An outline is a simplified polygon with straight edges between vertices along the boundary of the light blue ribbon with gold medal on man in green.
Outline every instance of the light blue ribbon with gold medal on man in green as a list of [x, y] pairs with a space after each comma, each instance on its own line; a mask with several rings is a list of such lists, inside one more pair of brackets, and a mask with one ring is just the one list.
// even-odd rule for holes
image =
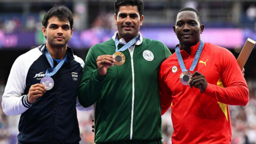
[[127, 44], [125, 44], [122, 48], [118, 49], [119, 39], [118, 34], [115, 36], [115, 53], [113, 56], [115, 57], [115, 65], [123, 65], [125, 62], [125, 56], [123, 51], [125, 51], [127, 48], [130, 48], [133, 44], [135, 44], [140, 38], [140, 35], [137, 35], [135, 38], [130, 40]]

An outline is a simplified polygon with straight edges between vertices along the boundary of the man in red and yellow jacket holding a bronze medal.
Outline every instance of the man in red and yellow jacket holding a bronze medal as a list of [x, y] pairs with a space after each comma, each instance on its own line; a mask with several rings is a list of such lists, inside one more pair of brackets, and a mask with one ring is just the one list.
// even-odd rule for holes
[[172, 108], [172, 144], [230, 144], [228, 105], [246, 105], [247, 83], [232, 53], [200, 39], [204, 25], [192, 8], [177, 13], [176, 52], [159, 70], [161, 109]]

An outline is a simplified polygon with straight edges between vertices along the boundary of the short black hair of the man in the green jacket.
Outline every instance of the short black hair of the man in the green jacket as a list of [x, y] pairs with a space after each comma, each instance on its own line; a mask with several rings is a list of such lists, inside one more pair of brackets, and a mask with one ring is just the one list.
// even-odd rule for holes
[[143, 0], [115, 0], [115, 15], [117, 16], [117, 13], [119, 11], [120, 6], [137, 6], [138, 11], [140, 13], [140, 17], [143, 15], [144, 10], [144, 2]]

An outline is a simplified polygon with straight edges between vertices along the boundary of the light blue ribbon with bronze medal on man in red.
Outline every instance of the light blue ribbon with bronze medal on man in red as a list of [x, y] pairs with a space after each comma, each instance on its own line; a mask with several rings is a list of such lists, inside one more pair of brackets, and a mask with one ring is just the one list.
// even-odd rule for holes
[[[194, 57], [194, 61], [192, 62], [192, 65], [190, 66], [189, 71], [193, 71], [194, 68], [196, 67], [196, 65], [199, 61], [200, 55], [203, 51], [203, 45], [204, 45], [204, 42], [203, 42], [203, 40], [201, 40], [200, 44], [199, 44], [199, 47], [197, 48], [195, 57]], [[190, 75], [192, 75], [192, 74], [185, 67], [184, 61], [183, 61], [182, 56], [181, 56], [179, 45], [176, 46], [175, 52], [176, 52], [177, 59], [179, 61], [181, 71], [182, 71], [182, 73], [180, 75], [180, 81], [181, 81], [182, 84], [188, 85], [189, 81], [190, 81]]]

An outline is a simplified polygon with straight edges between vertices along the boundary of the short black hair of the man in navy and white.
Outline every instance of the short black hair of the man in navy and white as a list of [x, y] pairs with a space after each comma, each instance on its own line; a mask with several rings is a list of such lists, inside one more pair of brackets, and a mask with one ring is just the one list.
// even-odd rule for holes
[[48, 25], [48, 20], [51, 17], [58, 17], [60, 21], [70, 23], [70, 28], [73, 28], [73, 15], [70, 9], [63, 5], [56, 5], [52, 9], [50, 9], [45, 15], [44, 19], [42, 20], [43, 26], [46, 28]]

